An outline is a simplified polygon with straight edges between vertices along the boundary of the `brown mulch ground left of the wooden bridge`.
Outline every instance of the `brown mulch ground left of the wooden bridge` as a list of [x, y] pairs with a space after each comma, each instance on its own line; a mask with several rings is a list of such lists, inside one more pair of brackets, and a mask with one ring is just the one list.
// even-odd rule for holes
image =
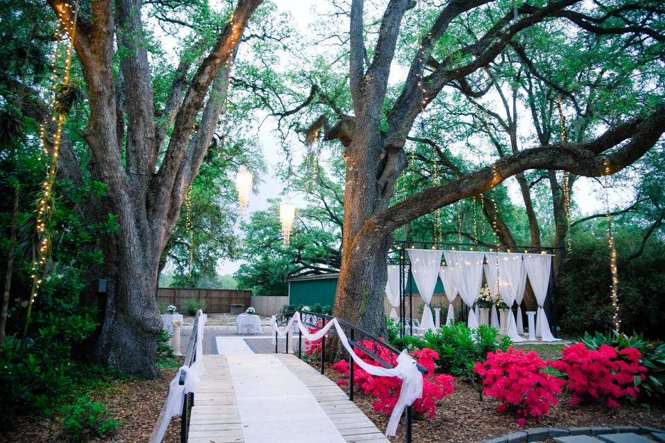
[[[88, 392], [94, 401], [103, 401], [115, 419], [123, 426], [113, 437], [88, 440], [93, 443], [145, 443], [152, 433], [161, 407], [168, 394], [168, 383], [177, 368], [162, 370], [157, 380], [114, 381], [100, 392]], [[40, 417], [20, 419], [15, 431], [1, 434], [0, 442], [11, 443], [65, 443], [67, 437], [60, 432], [60, 419]], [[164, 443], [180, 442], [180, 419], [172, 419], [163, 439]]]

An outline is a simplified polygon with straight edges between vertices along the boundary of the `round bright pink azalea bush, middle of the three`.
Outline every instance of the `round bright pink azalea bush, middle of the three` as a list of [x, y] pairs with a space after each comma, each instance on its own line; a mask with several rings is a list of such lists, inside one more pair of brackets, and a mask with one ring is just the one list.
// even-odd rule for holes
[[565, 381], [544, 372], [547, 366], [537, 352], [525, 354], [509, 347], [506, 352], [488, 352], [486, 361], [477, 362], [473, 371], [481, 378], [484, 394], [501, 401], [497, 411], [515, 413], [524, 426], [526, 417], [540, 419], [558, 404], [554, 395], [561, 393]]

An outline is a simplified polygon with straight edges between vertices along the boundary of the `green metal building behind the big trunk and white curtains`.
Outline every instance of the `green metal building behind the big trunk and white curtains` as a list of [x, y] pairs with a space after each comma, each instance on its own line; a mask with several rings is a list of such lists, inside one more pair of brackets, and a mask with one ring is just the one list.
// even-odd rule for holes
[[[319, 275], [305, 275], [294, 277], [289, 280], [289, 305], [334, 305], [335, 292], [337, 292], [337, 278], [339, 273], [328, 273]], [[419, 294], [416, 282], [411, 279], [407, 282], [405, 293], [409, 293], [409, 284], [414, 294]], [[443, 284], [440, 279], [436, 280], [434, 293], [443, 293]]]

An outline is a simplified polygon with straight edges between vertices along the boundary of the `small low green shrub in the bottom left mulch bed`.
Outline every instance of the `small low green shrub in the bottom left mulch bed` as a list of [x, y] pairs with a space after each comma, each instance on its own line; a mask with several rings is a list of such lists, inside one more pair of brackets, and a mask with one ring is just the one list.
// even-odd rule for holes
[[106, 437], [118, 431], [121, 422], [112, 418], [105, 404], [79, 398], [62, 410], [62, 432], [71, 440], [85, 442], [90, 437]]

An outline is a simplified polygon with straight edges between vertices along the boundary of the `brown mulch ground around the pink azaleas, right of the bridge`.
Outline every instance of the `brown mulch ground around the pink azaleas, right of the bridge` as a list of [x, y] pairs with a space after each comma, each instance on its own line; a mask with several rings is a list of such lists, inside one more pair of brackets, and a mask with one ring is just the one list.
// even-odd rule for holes
[[[310, 363], [317, 366], [317, 362]], [[326, 367], [326, 376], [333, 380], [339, 379], [339, 374]], [[347, 377], [348, 378], [348, 377]], [[348, 392], [348, 387], [342, 389]], [[373, 397], [364, 395], [357, 388], [354, 392], [354, 403], [363, 413], [384, 431], [388, 425], [386, 415], [375, 413]], [[665, 406], [652, 406], [643, 408], [624, 404], [621, 409], [608, 410], [602, 404], [586, 404], [583, 406], [568, 406], [567, 395], [559, 397], [560, 403], [552, 406], [549, 414], [541, 422], [527, 420], [525, 428], [552, 426], [569, 428], [572, 426], [609, 426], [634, 425], [653, 426], [665, 429]], [[509, 414], [496, 412], [499, 401], [485, 397], [479, 398], [478, 391], [470, 383], [462, 379], [455, 379], [455, 390], [445, 397], [436, 408], [434, 418], [414, 417], [412, 435], [414, 442], [436, 443], [474, 443], [491, 437], [499, 437], [520, 431], [522, 429], [515, 417]], [[390, 439], [393, 443], [403, 443], [404, 428], [400, 425], [398, 433]]]

